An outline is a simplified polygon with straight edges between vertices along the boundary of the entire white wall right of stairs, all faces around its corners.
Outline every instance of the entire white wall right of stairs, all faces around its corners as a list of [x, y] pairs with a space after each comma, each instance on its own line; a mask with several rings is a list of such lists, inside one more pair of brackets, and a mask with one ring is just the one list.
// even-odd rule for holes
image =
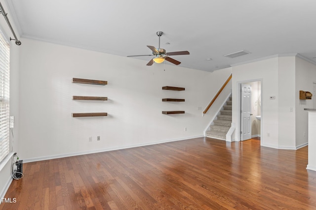
[[[299, 100], [299, 90], [313, 91], [313, 82], [316, 82], [314, 64], [296, 54], [279, 55], [235, 66], [232, 71], [233, 122], [236, 122], [237, 140], [238, 84], [261, 80], [261, 144], [279, 149], [298, 149], [308, 144], [308, 113], [304, 108], [313, 107], [313, 101]], [[276, 99], [271, 100], [270, 96]]]

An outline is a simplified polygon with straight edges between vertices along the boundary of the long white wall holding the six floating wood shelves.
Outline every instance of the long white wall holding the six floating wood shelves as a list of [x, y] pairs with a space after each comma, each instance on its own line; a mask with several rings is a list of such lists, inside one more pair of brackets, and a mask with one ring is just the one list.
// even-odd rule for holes
[[[231, 73], [148, 67], [147, 61], [133, 58], [31, 39], [22, 42], [19, 153], [25, 162], [203, 136], [210, 119], [197, 107], [204, 108]], [[76, 84], [73, 77], [107, 80], [108, 85]], [[72, 101], [73, 95], [105, 96], [108, 101]], [[186, 113], [164, 115], [163, 110]], [[101, 111], [108, 116], [71, 117], [72, 112]]]

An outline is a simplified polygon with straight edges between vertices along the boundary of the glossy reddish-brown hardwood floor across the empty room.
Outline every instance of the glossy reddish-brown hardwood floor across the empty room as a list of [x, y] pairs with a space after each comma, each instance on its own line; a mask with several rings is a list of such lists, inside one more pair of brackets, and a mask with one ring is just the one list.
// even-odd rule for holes
[[0, 210], [315, 210], [307, 158], [307, 146], [197, 138], [25, 163]]

